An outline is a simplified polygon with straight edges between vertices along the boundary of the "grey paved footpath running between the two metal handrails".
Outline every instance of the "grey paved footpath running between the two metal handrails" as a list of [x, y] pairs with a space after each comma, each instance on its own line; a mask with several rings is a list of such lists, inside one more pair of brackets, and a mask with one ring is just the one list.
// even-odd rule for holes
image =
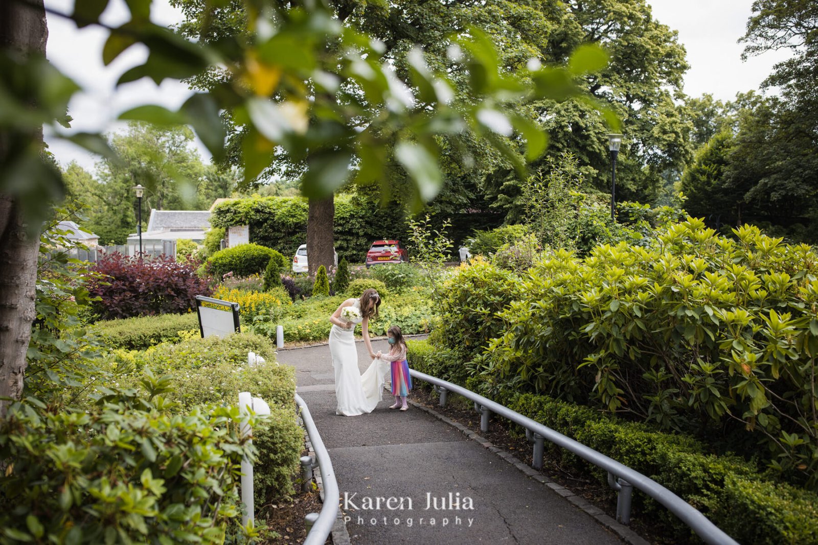
[[[363, 343], [356, 345], [363, 372], [370, 360]], [[384, 341], [373, 347], [388, 350]], [[336, 415], [328, 346], [279, 351], [278, 360], [297, 371], [299, 395], [335, 467], [352, 543], [622, 543], [586, 512], [455, 427], [411, 406], [405, 413], [389, 410], [393, 398], [387, 391], [372, 413]], [[438, 498], [437, 508], [434, 503], [426, 508], [428, 497]], [[440, 498], [446, 498], [445, 505]], [[459, 510], [453, 504], [457, 498]], [[465, 498], [474, 509], [463, 508]]]

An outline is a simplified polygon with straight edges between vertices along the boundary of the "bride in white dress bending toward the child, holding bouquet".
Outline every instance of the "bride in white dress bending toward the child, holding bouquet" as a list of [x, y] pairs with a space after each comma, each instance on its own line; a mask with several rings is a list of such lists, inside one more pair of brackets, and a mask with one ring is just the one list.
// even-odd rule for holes
[[[354, 310], [344, 310], [352, 307]], [[347, 299], [338, 310], [330, 316], [330, 354], [335, 368], [335, 397], [338, 398], [338, 409], [335, 414], [356, 416], [371, 413], [383, 399], [384, 380], [389, 362], [375, 358], [369, 340], [369, 320], [378, 315], [380, 295], [374, 289], [364, 290], [360, 299]], [[344, 317], [347, 315], [347, 317]], [[357, 366], [357, 348], [355, 347], [355, 324], [361, 324], [363, 342], [372, 363], [366, 372], [361, 374]]]

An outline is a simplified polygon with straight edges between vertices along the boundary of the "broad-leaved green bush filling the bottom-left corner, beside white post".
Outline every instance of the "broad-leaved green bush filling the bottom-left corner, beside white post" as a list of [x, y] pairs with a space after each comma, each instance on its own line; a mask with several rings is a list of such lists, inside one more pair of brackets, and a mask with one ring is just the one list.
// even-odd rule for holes
[[14, 404], [0, 428], [0, 543], [244, 543], [236, 408], [173, 415], [106, 389], [86, 411]]

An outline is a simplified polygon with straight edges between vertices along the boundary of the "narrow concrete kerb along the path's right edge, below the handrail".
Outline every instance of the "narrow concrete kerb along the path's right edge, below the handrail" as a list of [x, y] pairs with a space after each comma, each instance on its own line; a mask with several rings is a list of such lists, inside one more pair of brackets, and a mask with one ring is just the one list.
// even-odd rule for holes
[[474, 431], [470, 430], [468, 427], [463, 426], [460, 422], [455, 422], [451, 418], [447, 418], [443, 414], [438, 413], [436, 410], [430, 409], [425, 405], [421, 405], [414, 400], [407, 399], [407, 401], [413, 407], [416, 407], [416, 409], [420, 409], [425, 413], [429, 413], [432, 416], [434, 416], [434, 418], [437, 418], [438, 420], [441, 420], [451, 426], [456, 427], [463, 433], [463, 435], [468, 437], [470, 440], [473, 440], [481, 444], [484, 448], [490, 450], [492, 453], [497, 454], [499, 458], [506, 460], [506, 462], [509, 462], [519, 471], [522, 471], [529, 478], [536, 480], [537, 482], [542, 483], [543, 485], [546, 485], [548, 488], [554, 490], [557, 494], [560, 494], [560, 496], [567, 499], [569, 502], [573, 503], [575, 507], [578, 507], [578, 509], [582, 509], [582, 511], [587, 512], [588, 515], [591, 515], [598, 523], [600, 523], [600, 525], [605, 526], [606, 528], [610, 529], [614, 534], [617, 534], [619, 538], [621, 538], [622, 541], [624, 541], [625, 543], [630, 543], [631, 545], [650, 545], [645, 538], [642, 538], [639, 534], [636, 534], [636, 532], [628, 528], [626, 525], [617, 522], [616, 520], [613, 519], [613, 517], [605, 515], [604, 511], [602, 511], [599, 507], [596, 507], [593, 504], [589, 503], [587, 499], [582, 498], [582, 496], [578, 496], [577, 494], [574, 494], [570, 489], [564, 487], [563, 485], [555, 483], [553, 480], [542, 475], [542, 473], [540, 473], [533, 467], [530, 467], [528, 466], [528, 464], [522, 462], [519, 458], [506, 452], [503, 449], [498, 448], [489, 440], [474, 433]]

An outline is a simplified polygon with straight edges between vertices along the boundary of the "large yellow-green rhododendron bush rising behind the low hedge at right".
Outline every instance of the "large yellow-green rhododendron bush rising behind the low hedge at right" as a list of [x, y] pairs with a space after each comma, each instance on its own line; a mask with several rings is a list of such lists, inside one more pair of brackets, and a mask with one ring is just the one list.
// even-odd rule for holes
[[487, 382], [711, 436], [816, 486], [818, 256], [736, 236], [689, 220], [519, 278], [478, 261], [447, 287], [442, 338]]

